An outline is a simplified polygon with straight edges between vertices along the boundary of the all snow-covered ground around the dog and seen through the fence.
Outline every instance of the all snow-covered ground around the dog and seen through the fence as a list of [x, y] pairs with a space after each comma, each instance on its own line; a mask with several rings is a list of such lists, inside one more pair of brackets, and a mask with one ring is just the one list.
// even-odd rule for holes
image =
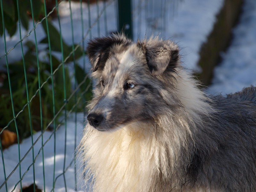
[[[150, 4], [153, 3], [155, 11], [151, 11]], [[155, 3], [154, 3], [155, 2]], [[215, 21], [215, 15], [220, 10], [223, 0], [183, 0], [183, 1], [163, 1], [166, 4], [156, 4], [157, 1], [144, 1], [137, 0], [134, 2], [133, 13], [134, 20], [134, 39], [143, 38], [145, 35], [150, 36], [151, 33], [154, 35], [162, 36], [163, 38], [171, 38], [177, 42], [180, 47], [182, 47], [181, 54], [183, 55], [183, 65], [193, 70], [200, 70], [196, 63], [199, 59], [198, 52], [200, 46], [206, 41], [207, 35], [210, 33], [213, 23]], [[174, 3], [173, 3], [174, 2]], [[108, 5], [108, 2], [107, 2]], [[165, 6], [164, 6], [165, 5]], [[72, 43], [71, 36], [71, 25], [70, 25], [70, 12], [69, 4], [63, 2], [60, 4], [60, 15], [61, 15], [61, 28], [62, 36], [66, 43]], [[104, 4], [99, 3], [99, 10], [102, 10]], [[141, 9], [140, 9], [141, 7]], [[175, 9], [173, 9], [173, 7]], [[91, 22], [92, 24], [97, 18], [97, 7], [91, 5]], [[234, 40], [227, 53], [223, 54], [222, 63], [215, 69], [215, 75], [213, 79], [213, 84], [207, 89], [207, 92], [235, 92], [240, 90], [244, 86], [249, 86], [250, 84], [256, 84], [256, 1], [255, 0], [245, 0], [243, 16], [240, 20], [240, 24], [234, 29]], [[107, 15], [107, 32], [116, 31], [116, 3], [111, 3], [106, 9]], [[173, 10], [175, 10], [173, 12]], [[150, 14], [149, 14], [150, 13]], [[160, 14], [161, 13], [161, 14]], [[75, 43], [79, 43], [81, 34], [81, 15], [80, 15], [80, 4], [72, 2], [72, 14], [73, 14], [73, 24], [74, 24], [74, 36]], [[83, 4], [83, 18], [84, 18], [84, 28], [85, 33], [88, 28], [88, 9], [87, 5]], [[165, 18], [165, 19], [164, 19]], [[161, 23], [162, 22], [162, 23]], [[168, 24], [167, 24], [168, 23]], [[59, 28], [58, 21], [53, 21], [56, 28]], [[105, 35], [106, 28], [104, 25], [104, 12], [102, 17], [100, 17], [100, 31], [98, 31], [97, 23], [92, 28], [92, 36]], [[30, 23], [30, 29], [32, 23]], [[98, 34], [99, 32], [99, 34]], [[27, 31], [22, 31], [22, 37], [27, 34]], [[36, 34], [38, 37], [38, 42], [45, 37], [41, 25], [36, 28]], [[90, 33], [87, 39], [90, 37]], [[33, 33], [26, 38], [27, 40], [34, 41]], [[12, 48], [16, 42], [19, 41], [19, 34], [12, 38], [7, 37], [7, 51]], [[4, 40], [0, 38], [0, 56], [4, 55]], [[19, 45], [18, 45], [19, 46]], [[26, 52], [26, 50], [25, 50]], [[14, 60], [19, 60], [21, 58], [20, 48], [16, 47], [11, 50], [8, 54], [8, 61], [12, 62]], [[4, 64], [4, 58], [0, 60], [0, 65]], [[67, 152], [66, 152], [66, 166], [74, 158], [75, 149], [75, 137], [77, 142], [81, 139], [81, 133], [83, 129], [83, 114], [78, 114], [77, 117], [77, 135], [75, 136], [75, 127], [73, 117], [68, 118], [67, 124]], [[52, 132], [45, 132], [44, 142], [50, 138]], [[39, 137], [40, 132], [33, 135], [34, 141]], [[63, 172], [64, 164], [64, 146], [65, 146], [65, 126], [60, 126], [56, 132], [56, 168], [55, 168], [55, 178], [57, 175]], [[52, 180], [53, 180], [53, 143], [54, 139], [52, 137], [44, 146], [44, 170], [45, 170], [45, 185], [46, 191], [51, 191]], [[20, 154], [21, 158], [26, 154], [28, 149], [31, 147], [31, 139], [28, 138], [23, 140], [20, 144]], [[34, 147], [35, 156], [38, 154], [41, 148], [41, 138], [36, 143]], [[1, 158], [0, 158], [1, 159]], [[27, 171], [28, 166], [32, 162], [31, 151], [21, 162], [21, 175]], [[10, 148], [4, 150], [4, 163], [5, 172], [8, 176], [14, 167], [19, 163], [18, 160], [18, 146], [13, 145]], [[74, 164], [71, 164], [65, 173], [67, 191], [74, 191], [75, 189], [75, 170]], [[77, 169], [80, 168], [80, 165]], [[4, 182], [3, 166], [2, 160], [0, 160], [0, 185]], [[39, 156], [35, 163], [35, 178], [36, 184], [39, 188], [43, 189], [43, 161], [42, 161], [42, 151], [40, 151]], [[79, 175], [79, 173], [78, 173]], [[19, 168], [12, 174], [8, 179], [8, 191], [12, 191], [14, 185], [19, 180]], [[81, 177], [80, 177], [81, 178]], [[77, 176], [78, 191], [83, 191], [81, 187], [81, 182], [79, 176]], [[30, 167], [29, 171], [25, 174], [22, 180], [22, 186], [30, 185], [33, 183], [33, 168]], [[16, 187], [15, 191], [19, 191], [20, 184]], [[0, 191], [5, 191], [5, 186], [0, 189]], [[65, 191], [63, 175], [61, 175], [55, 184], [54, 191]]]

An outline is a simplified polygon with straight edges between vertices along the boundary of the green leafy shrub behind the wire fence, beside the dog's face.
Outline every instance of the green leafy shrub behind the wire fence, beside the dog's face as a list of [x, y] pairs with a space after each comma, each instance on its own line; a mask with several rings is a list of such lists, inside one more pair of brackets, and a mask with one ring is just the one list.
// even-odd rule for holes
[[[44, 30], [46, 32], [46, 23], [43, 23]], [[54, 26], [48, 22], [49, 27], [49, 39], [51, 48], [55, 53], [57, 52], [58, 55], [61, 55], [61, 46], [60, 46], [60, 34], [54, 28]], [[42, 44], [48, 45], [48, 38], [45, 38], [41, 41]], [[69, 62], [73, 61], [72, 57], [72, 46], [68, 46], [62, 39], [63, 45], [63, 55], [64, 59], [70, 55], [68, 60], [65, 62], [64, 72], [65, 72], [65, 87], [66, 87], [66, 99], [74, 92], [75, 86], [74, 81], [72, 83], [72, 79], [76, 78], [77, 84], [80, 84], [84, 81], [86, 73], [84, 70], [77, 64], [75, 64], [76, 69], [76, 76], [70, 73], [70, 68], [74, 68], [74, 63]], [[54, 90], [54, 100], [55, 100], [55, 114], [60, 110], [60, 108], [64, 105], [64, 81], [63, 81], [63, 68], [62, 65], [60, 66], [61, 60], [58, 59], [53, 54], [51, 55], [52, 62], [50, 62], [50, 52], [49, 49], [46, 48], [39, 52], [36, 52], [36, 46], [33, 42], [28, 41], [26, 42], [25, 46], [28, 47], [28, 51], [24, 55], [24, 60], [26, 64], [26, 74], [27, 74], [27, 82], [28, 82], [28, 97], [29, 100], [32, 101], [29, 103], [30, 111], [31, 111], [31, 118], [32, 118], [32, 128], [33, 131], [40, 131], [41, 130], [41, 116], [40, 116], [40, 105], [42, 107], [42, 120], [43, 120], [43, 129], [52, 121], [54, 118], [53, 113], [53, 98], [52, 98], [52, 90]], [[76, 46], [76, 45], [75, 45]], [[40, 52], [46, 52], [44, 59], [40, 59], [38, 61], [39, 64], [39, 74], [37, 68], [37, 57], [36, 54]], [[83, 50], [81, 46], [78, 46], [77, 50], [75, 51], [75, 59], [78, 59], [82, 56]], [[55, 71], [58, 67], [58, 70], [53, 75], [53, 83], [51, 78], [51, 63], [52, 63], [52, 71]], [[23, 60], [16, 61], [14, 63], [9, 63], [9, 70], [10, 70], [10, 79], [11, 79], [11, 87], [13, 93], [13, 106], [15, 110], [15, 115], [17, 115], [20, 110], [27, 104], [27, 93], [26, 93], [26, 86], [25, 86], [25, 75], [24, 75], [24, 68], [23, 68]], [[46, 82], [41, 90], [41, 103], [39, 99], [39, 85], [38, 85], [38, 75], [40, 76], [41, 85]], [[9, 82], [7, 78], [6, 71], [0, 71], [0, 77], [5, 76], [3, 86], [0, 87], [0, 127], [5, 127], [9, 121], [12, 119], [12, 103], [10, 97], [10, 88]], [[47, 81], [48, 79], [48, 81]], [[90, 79], [87, 78], [85, 80], [84, 85], [77, 90], [77, 95], [82, 96], [85, 101], [91, 99], [92, 96], [92, 86], [89, 90], [82, 95], [85, 86], [90, 84]], [[37, 93], [36, 93], [37, 92]], [[35, 95], [36, 93], [36, 95]], [[34, 96], [35, 95], [35, 96]], [[71, 98], [66, 103], [67, 110], [71, 110], [72, 107], [76, 104], [74, 98]], [[84, 111], [84, 102], [80, 102], [77, 105], [77, 111]], [[57, 124], [59, 117], [63, 115], [60, 113], [59, 116], [56, 117]], [[29, 123], [29, 113], [28, 113], [28, 105], [25, 106], [23, 111], [18, 115], [17, 119], [17, 127], [19, 131], [20, 138], [26, 138], [30, 135], [30, 123]], [[53, 124], [49, 127], [49, 129], [53, 128]], [[9, 130], [16, 132], [16, 127], [14, 121], [11, 122], [8, 126]]]

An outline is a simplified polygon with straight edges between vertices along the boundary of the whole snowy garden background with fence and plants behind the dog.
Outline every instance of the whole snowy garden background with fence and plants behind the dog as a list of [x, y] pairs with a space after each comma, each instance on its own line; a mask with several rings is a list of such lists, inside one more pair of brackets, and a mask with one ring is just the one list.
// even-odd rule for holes
[[1, 192], [86, 190], [76, 147], [94, 37], [170, 39], [210, 94], [256, 84], [255, 0], [0, 2]]

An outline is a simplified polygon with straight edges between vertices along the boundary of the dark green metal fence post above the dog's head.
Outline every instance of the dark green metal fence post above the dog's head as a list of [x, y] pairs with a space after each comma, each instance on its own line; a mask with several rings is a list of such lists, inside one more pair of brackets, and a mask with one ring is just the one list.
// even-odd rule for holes
[[118, 29], [132, 39], [132, 1], [118, 0]]

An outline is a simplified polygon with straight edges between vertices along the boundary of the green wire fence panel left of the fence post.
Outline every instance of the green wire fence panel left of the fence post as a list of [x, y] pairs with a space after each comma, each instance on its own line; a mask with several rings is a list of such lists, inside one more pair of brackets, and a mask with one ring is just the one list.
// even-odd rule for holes
[[[63, 17], [67, 19], [67, 16], [61, 18], [60, 6], [63, 3], [62, 7], [68, 7], [69, 10], [67, 13], [70, 24], [69, 31], [66, 31], [67, 26], [61, 23]], [[113, 7], [116, 2], [112, 0], [90, 3], [89, 0], [86, 2], [82, 2], [82, 0], [79, 2], [56, 0], [54, 4], [49, 4], [46, 0], [43, 2], [1, 0], [2, 28], [0, 28], [0, 34], [3, 44], [1, 43], [0, 49], [4, 50], [4, 54], [1, 51], [0, 148], [1, 175], [3, 177], [0, 178], [0, 191], [28, 191], [28, 189], [29, 191], [36, 191], [37, 188], [42, 191], [54, 191], [56, 190], [56, 182], [61, 177], [63, 178], [61, 180], [63, 181], [63, 188], [57, 188], [59, 191], [69, 191], [70, 187], [75, 191], [79, 190], [77, 188], [76, 166], [75, 170], [71, 171], [74, 178], [73, 186], [68, 186], [70, 174], [67, 176], [67, 172], [70, 172], [70, 169], [76, 164], [77, 125], [84, 126], [82, 120], [85, 111], [84, 106], [92, 95], [92, 82], [88, 78], [88, 61], [84, 51], [85, 40], [92, 38], [92, 32], [96, 27], [96, 36], [108, 34], [106, 12], [108, 7]], [[80, 6], [80, 15], [76, 15], [75, 19], [73, 15], [76, 13], [72, 10], [72, 4]], [[50, 10], [49, 6], [51, 7]], [[86, 12], [88, 15], [85, 16], [84, 13]], [[12, 26], [9, 23], [10, 19], [14, 23]], [[100, 20], [102, 19], [104, 20], [104, 33], [100, 28], [102, 23]], [[77, 29], [74, 28], [74, 22], [79, 22], [81, 26], [79, 33], [77, 31], [75, 33]], [[76, 26], [79, 24], [76, 23]], [[114, 26], [116, 28], [116, 23]], [[63, 27], [65, 31], [63, 31]], [[24, 34], [26, 31], [29, 32]], [[46, 37], [42, 39], [43, 31]], [[63, 35], [67, 36], [67, 34], [71, 36], [71, 42], [68, 43], [63, 38]], [[77, 37], [75, 34], [80, 34], [80, 36]], [[11, 36], [19, 37], [19, 39], [9, 48], [10, 44], [8, 43], [10, 41], [8, 39], [10, 40]], [[34, 39], [31, 36], [34, 36]], [[17, 54], [16, 50], [20, 53], [21, 60], [13, 59]], [[5, 113], [7, 114], [4, 115]], [[70, 115], [74, 117], [72, 118], [74, 121], [72, 127], [68, 127]], [[80, 118], [79, 123], [77, 118]], [[59, 162], [57, 160], [58, 151], [56, 151], [59, 148], [58, 129], [64, 130], [64, 155], [61, 158], [63, 161], [61, 172], [60, 169], [56, 171]], [[72, 138], [74, 140], [72, 155], [74, 155], [68, 159], [67, 133], [69, 129], [74, 132], [74, 138]], [[5, 144], [6, 136], [4, 137], [4, 134], [7, 130], [15, 132], [17, 144], [4, 149], [5, 146], [2, 144]], [[79, 134], [81, 135], [81, 128]], [[29, 137], [30, 144], [26, 144]], [[45, 159], [45, 153], [48, 153], [45, 151], [47, 142], [51, 142], [53, 148], [51, 151], [51, 170], [45, 169], [45, 162], [49, 164], [49, 160]], [[25, 152], [23, 145], [29, 146]], [[13, 159], [13, 163], [18, 163], [16, 165], [11, 164], [13, 166], [11, 168], [10, 155], [7, 150], [14, 153], [14, 156], [18, 154], [18, 159]], [[39, 157], [41, 160], [38, 160]], [[47, 157], [49, 158], [49, 156]], [[35, 170], [38, 169], [36, 166], [38, 161], [42, 163], [42, 177], [39, 179], [36, 177], [37, 170]], [[32, 174], [30, 174], [31, 172]], [[26, 174], [32, 175], [32, 177], [29, 176], [31, 177], [30, 183]], [[49, 175], [52, 176], [51, 188], [46, 181], [49, 180]], [[30, 184], [31, 186], [29, 186]]]

